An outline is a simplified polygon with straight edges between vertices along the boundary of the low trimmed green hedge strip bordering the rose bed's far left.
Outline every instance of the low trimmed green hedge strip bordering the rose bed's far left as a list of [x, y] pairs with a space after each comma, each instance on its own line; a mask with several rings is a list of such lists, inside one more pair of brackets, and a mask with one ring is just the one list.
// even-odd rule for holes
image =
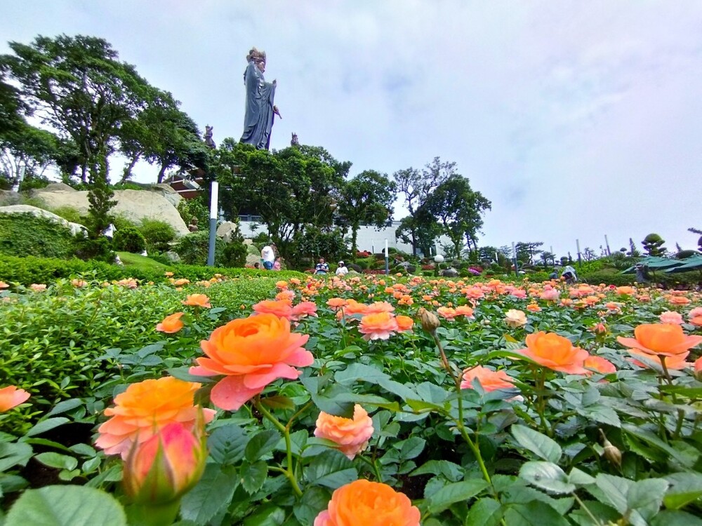
[[[215, 274], [222, 274], [230, 278], [237, 276], [265, 276], [276, 280], [305, 278], [304, 274], [296, 271], [278, 271], [274, 275], [270, 275], [268, 274], [270, 271], [258, 271], [255, 269], [200, 267], [199, 265], [182, 264], [172, 264], [168, 267], [168, 271], [173, 272], [173, 277], [187, 278], [190, 281], [207, 280]], [[81, 261], [81, 259], [0, 255], [0, 281], [7, 283], [29, 286], [32, 283], [52, 283], [59, 278], [84, 275], [89, 275], [91, 279], [98, 281], [135, 278], [158, 283], [168, 279], [164, 272], [138, 269], [128, 265], [120, 266], [95, 261]]]

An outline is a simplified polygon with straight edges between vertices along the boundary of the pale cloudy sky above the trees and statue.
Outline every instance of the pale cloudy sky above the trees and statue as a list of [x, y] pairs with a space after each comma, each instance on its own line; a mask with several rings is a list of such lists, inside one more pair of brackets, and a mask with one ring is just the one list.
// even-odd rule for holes
[[[351, 175], [453, 161], [492, 202], [479, 245], [599, 255], [702, 229], [698, 0], [0, 0], [0, 53], [38, 34], [109, 41], [214, 139], [239, 138], [246, 54], [277, 79], [271, 147]], [[112, 162], [121, 170], [119, 161]], [[143, 164], [136, 180], [155, 182]], [[405, 215], [401, 203], [395, 219]]]

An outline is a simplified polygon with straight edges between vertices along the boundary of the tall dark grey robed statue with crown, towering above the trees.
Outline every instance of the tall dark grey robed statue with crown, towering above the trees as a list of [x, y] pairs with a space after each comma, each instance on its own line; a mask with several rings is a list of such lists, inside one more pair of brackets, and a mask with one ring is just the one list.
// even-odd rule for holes
[[277, 82], [266, 82], [263, 78], [263, 72], [265, 72], [263, 51], [251, 49], [249, 55], [246, 55], [246, 60], [249, 62], [244, 72], [246, 113], [244, 114], [244, 134], [241, 135], [240, 142], [253, 144], [260, 150], [268, 149], [273, 121], [276, 115], [280, 117], [278, 108], [273, 104]]

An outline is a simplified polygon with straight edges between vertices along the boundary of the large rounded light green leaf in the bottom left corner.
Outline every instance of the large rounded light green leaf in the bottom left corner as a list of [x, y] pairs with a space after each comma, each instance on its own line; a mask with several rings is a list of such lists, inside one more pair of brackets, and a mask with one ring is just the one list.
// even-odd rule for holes
[[125, 526], [124, 509], [112, 495], [84, 486], [27, 490], [7, 514], [5, 526]]

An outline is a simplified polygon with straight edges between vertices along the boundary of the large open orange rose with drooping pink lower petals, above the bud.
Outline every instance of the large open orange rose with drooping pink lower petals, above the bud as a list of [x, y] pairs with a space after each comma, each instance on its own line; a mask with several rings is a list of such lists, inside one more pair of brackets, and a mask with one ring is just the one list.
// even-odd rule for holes
[[213, 387], [212, 403], [236, 411], [278, 378], [296, 379], [295, 367], [312, 365], [314, 357], [303, 346], [308, 335], [290, 332], [290, 322], [274, 314], [232, 320], [200, 342], [206, 357], [197, 358], [191, 375], [225, 375]]

